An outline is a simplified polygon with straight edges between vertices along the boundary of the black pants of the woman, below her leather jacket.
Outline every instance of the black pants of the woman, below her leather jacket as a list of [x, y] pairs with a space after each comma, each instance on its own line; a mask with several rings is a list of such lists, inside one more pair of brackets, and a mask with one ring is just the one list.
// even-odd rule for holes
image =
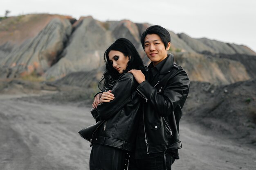
[[94, 144], [90, 170], [127, 170], [130, 153], [126, 150]]

